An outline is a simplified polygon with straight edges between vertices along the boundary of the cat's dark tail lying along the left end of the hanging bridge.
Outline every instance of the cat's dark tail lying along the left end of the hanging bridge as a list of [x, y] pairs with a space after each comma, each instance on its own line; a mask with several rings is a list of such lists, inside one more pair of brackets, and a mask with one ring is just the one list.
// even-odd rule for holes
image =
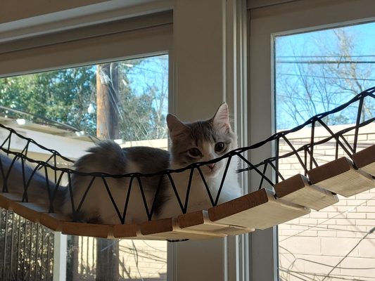
[[49, 181], [40, 166], [23, 164], [21, 159], [0, 153], [0, 192], [16, 193], [23, 202], [43, 204], [49, 211], [61, 212], [65, 200], [65, 186]]

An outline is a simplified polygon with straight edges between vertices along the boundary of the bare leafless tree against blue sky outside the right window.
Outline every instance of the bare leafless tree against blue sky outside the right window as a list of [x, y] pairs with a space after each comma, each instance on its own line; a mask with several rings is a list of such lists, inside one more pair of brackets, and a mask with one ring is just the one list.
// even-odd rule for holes
[[[297, 126], [308, 118], [348, 101], [371, 86], [374, 64], [363, 60], [355, 34], [345, 28], [324, 32], [309, 42], [310, 53], [304, 48], [293, 48], [287, 58], [277, 58], [277, 114], [284, 126]], [[307, 44], [307, 43], [306, 43]], [[314, 50], [313, 52], [311, 50]], [[365, 104], [362, 119], [371, 115], [374, 106]], [[353, 110], [333, 115], [327, 124], [355, 122]]]

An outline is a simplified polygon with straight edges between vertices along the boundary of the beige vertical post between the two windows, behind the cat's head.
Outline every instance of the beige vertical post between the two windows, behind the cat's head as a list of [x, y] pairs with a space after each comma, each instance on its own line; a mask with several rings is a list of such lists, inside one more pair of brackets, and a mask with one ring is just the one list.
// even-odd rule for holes
[[[172, 112], [185, 120], [205, 118], [227, 101], [239, 145], [246, 145], [246, 1], [176, 1], [173, 12], [177, 99]], [[246, 237], [170, 245], [168, 280], [248, 280]]]

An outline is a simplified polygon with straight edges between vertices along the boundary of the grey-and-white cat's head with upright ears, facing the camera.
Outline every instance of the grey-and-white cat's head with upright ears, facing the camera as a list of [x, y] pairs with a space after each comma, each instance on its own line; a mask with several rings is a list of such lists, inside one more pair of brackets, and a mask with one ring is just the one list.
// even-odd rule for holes
[[[174, 115], [167, 115], [167, 125], [172, 140], [173, 168], [183, 168], [194, 162], [206, 162], [237, 148], [236, 134], [231, 130], [227, 103], [215, 115], [203, 121], [185, 123]], [[203, 174], [217, 176], [226, 161], [202, 166]]]

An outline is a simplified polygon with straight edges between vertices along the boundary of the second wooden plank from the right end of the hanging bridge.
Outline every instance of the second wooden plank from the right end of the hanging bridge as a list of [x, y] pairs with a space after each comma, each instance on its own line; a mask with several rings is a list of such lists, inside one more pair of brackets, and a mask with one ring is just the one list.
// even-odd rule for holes
[[354, 169], [352, 161], [346, 157], [318, 166], [307, 172], [312, 184], [339, 195], [350, 197], [374, 188], [370, 174]]

